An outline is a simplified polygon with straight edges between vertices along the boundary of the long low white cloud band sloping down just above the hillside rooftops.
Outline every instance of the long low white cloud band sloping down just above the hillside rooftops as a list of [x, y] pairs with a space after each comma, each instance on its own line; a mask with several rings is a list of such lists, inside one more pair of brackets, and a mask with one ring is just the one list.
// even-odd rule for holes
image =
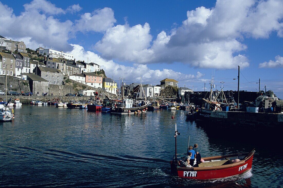
[[[142, 82], [149, 84], [160, 84], [160, 80], [168, 77], [179, 81], [179, 85], [183, 85], [187, 82], [198, 81], [204, 74], [196, 72], [194, 74], [182, 74], [180, 72], [175, 72], [171, 69], [163, 70], [152, 70], [143, 64], [134, 64], [133, 66], [125, 66], [114, 62], [113, 60], [105, 60], [99, 55], [91, 52], [85, 51], [84, 48], [78, 44], [71, 44], [73, 50], [70, 51], [71, 54], [77, 57], [77, 59], [87, 61], [87, 58], [91, 62], [97, 63], [103, 68], [108, 77], [113, 76], [117, 81], [119, 77], [124, 77], [127, 83], [140, 82], [140, 75], [142, 75]], [[131, 76], [129, 76], [131, 75]]]

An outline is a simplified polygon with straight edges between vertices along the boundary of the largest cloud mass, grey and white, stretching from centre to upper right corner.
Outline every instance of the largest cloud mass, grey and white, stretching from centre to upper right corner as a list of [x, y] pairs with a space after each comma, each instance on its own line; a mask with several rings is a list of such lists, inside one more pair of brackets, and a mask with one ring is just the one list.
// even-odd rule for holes
[[[244, 38], [283, 36], [283, 1], [218, 0], [215, 7], [198, 7], [170, 33], [152, 41], [150, 26], [117, 25], [104, 34], [95, 49], [102, 57], [137, 62], [182, 62], [193, 67], [229, 69], [249, 66], [241, 54]], [[135, 31], [135, 32], [132, 32]], [[120, 40], [121, 39], [121, 40]], [[149, 46], [149, 44], [152, 44]]]

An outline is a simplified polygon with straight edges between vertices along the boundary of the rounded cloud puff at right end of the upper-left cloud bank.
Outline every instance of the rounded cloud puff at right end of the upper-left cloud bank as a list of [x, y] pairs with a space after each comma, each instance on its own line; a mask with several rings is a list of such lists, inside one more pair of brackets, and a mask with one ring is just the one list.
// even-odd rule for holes
[[80, 20], [76, 20], [75, 27], [78, 31], [102, 32], [112, 27], [115, 22], [114, 11], [105, 7], [81, 15]]

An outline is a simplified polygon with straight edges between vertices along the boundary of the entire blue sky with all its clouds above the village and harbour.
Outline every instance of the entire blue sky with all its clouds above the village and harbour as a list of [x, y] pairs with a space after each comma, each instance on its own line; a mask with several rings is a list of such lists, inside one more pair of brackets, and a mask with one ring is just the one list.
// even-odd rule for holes
[[203, 90], [215, 70], [217, 88], [236, 90], [240, 65], [240, 90], [258, 91], [260, 77], [283, 98], [283, 1], [0, 2], [0, 35], [88, 57], [117, 82]]

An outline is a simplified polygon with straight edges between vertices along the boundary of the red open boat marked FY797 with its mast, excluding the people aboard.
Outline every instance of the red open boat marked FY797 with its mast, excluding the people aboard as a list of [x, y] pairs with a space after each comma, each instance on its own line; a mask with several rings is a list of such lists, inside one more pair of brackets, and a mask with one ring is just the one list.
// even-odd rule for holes
[[175, 155], [171, 163], [171, 173], [180, 178], [188, 179], [218, 179], [243, 174], [252, 168], [252, 159], [255, 151], [250, 153], [239, 153], [223, 156], [203, 157], [202, 163], [195, 164], [192, 167], [182, 167], [183, 156], [186, 154], [177, 154], [177, 127], [175, 128]]

